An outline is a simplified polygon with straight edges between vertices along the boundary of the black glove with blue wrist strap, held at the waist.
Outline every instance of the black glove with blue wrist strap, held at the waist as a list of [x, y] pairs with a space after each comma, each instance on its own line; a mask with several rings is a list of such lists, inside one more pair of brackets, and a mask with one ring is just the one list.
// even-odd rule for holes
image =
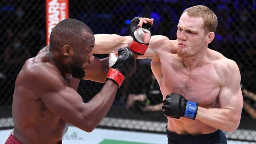
[[168, 94], [163, 100], [162, 111], [167, 117], [179, 119], [181, 116], [195, 120], [198, 103], [190, 102], [181, 94]]

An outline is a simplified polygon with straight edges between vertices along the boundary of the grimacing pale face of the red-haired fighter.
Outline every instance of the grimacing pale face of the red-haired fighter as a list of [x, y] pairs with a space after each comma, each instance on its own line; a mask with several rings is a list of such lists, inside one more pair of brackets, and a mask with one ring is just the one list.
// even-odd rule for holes
[[205, 45], [206, 35], [201, 17], [189, 17], [185, 12], [180, 17], [177, 27], [177, 54], [180, 57], [192, 57], [207, 46]]

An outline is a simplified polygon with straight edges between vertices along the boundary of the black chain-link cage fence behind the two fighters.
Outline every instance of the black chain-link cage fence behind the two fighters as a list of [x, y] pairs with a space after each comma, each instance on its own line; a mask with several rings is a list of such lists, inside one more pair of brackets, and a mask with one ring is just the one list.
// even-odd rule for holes
[[[176, 39], [182, 11], [205, 5], [218, 17], [210, 48], [239, 65], [244, 109], [239, 129], [226, 133], [229, 139], [256, 141], [256, 0], [70, 0], [70, 18], [87, 24], [95, 34], [129, 35], [132, 18], [154, 18], [152, 35]], [[15, 79], [24, 61], [45, 46], [45, 1], [2, 0], [0, 2], [0, 126], [11, 124]], [[95, 55], [106, 57], [107, 55]], [[136, 73], [125, 79], [107, 117], [100, 126], [164, 132], [167, 119], [159, 111], [162, 96], [152, 75], [150, 60], [137, 60]], [[103, 84], [81, 81], [79, 94], [89, 101]], [[9, 119], [8, 119], [9, 118]]]

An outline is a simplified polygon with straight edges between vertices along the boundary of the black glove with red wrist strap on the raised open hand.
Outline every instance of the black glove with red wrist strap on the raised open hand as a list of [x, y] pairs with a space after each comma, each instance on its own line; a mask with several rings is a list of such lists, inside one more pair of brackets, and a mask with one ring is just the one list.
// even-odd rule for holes
[[135, 17], [134, 19], [132, 19], [132, 21], [130, 22], [129, 25], [129, 32], [133, 38], [132, 43], [130, 44], [129, 48], [134, 51], [136, 54], [139, 55], [144, 55], [149, 43], [145, 44], [142, 41], [143, 38], [143, 33], [148, 33], [149, 35], [151, 35], [151, 28], [152, 25], [150, 24], [142, 24], [142, 28], [137, 28], [139, 24], [139, 17]]

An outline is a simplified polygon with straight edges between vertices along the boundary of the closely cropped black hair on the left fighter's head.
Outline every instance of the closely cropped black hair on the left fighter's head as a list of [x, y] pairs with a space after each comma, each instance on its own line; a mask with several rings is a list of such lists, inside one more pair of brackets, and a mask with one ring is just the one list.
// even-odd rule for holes
[[91, 28], [80, 20], [73, 18], [61, 20], [50, 34], [50, 48], [59, 44], [59, 41], [78, 40], [83, 37], [84, 32], [93, 35]]

